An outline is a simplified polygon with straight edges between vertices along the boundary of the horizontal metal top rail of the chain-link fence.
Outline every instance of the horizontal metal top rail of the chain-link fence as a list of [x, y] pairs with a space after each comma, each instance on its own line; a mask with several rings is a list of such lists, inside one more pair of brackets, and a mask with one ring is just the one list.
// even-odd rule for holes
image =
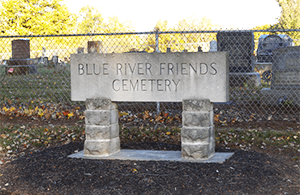
[[218, 32], [299, 32], [300, 29], [269, 29], [269, 30], [200, 30], [200, 31], [148, 31], [119, 33], [89, 33], [89, 34], [59, 34], [59, 35], [5, 35], [0, 38], [34, 38], [34, 37], [78, 37], [78, 36], [115, 36], [115, 35], [145, 35], [145, 34], [188, 34], [188, 33], [218, 33]]

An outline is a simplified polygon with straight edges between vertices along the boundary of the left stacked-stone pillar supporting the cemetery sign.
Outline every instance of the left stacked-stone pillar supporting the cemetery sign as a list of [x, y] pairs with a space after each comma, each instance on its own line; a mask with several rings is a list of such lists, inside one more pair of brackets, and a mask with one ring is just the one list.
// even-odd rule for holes
[[84, 156], [109, 156], [120, 151], [117, 105], [107, 99], [87, 99]]

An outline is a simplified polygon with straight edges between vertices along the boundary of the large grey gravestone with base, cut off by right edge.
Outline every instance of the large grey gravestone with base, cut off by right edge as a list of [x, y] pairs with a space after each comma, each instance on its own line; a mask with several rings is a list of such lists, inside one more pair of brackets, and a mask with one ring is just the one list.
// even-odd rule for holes
[[271, 88], [261, 90], [264, 104], [300, 105], [300, 47], [273, 50]]

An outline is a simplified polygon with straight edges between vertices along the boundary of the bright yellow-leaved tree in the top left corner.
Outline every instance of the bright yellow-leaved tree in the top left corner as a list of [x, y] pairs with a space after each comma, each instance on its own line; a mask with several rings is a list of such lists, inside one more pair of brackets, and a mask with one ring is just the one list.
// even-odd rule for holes
[[74, 26], [62, 0], [4, 0], [0, 6], [1, 34], [64, 34]]

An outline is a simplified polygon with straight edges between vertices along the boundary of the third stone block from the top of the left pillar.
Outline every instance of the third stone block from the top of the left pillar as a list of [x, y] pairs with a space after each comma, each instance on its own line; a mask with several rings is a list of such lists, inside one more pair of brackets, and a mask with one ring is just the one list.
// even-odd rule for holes
[[113, 124], [109, 126], [86, 125], [86, 140], [102, 140], [113, 139], [119, 137], [119, 125]]

